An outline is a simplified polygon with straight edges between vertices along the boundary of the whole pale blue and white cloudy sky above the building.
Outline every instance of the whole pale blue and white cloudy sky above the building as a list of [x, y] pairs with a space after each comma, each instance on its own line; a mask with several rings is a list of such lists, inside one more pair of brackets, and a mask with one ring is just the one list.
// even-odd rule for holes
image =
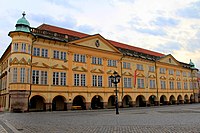
[[200, 0], [1, 0], [0, 56], [26, 12], [42, 23], [172, 54], [200, 69]]

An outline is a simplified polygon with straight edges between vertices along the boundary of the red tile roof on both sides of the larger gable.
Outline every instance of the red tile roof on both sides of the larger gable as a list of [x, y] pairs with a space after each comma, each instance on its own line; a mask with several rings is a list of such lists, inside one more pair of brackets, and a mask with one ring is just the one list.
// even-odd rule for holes
[[[73, 31], [73, 30], [69, 30], [69, 29], [64, 29], [64, 28], [60, 28], [60, 27], [56, 27], [56, 26], [52, 26], [52, 25], [47, 25], [47, 24], [42, 24], [38, 28], [42, 29], [42, 30], [58, 32], [61, 34], [67, 34], [67, 35], [76, 36], [76, 37], [80, 37], [80, 38], [88, 36], [88, 34], [85, 34], [85, 33], [77, 32], [77, 31]], [[149, 54], [149, 55], [153, 55], [153, 56], [164, 56], [164, 54], [162, 54], [162, 53], [146, 50], [146, 49], [139, 48], [139, 47], [134, 47], [131, 45], [123, 44], [123, 43], [112, 41], [112, 40], [108, 40], [108, 41], [111, 44], [113, 44], [115, 47], [129, 49], [129, 50], [133, 50], [133, 51], [137, 51], [137, 52], [141, 52], [141, 53]]]

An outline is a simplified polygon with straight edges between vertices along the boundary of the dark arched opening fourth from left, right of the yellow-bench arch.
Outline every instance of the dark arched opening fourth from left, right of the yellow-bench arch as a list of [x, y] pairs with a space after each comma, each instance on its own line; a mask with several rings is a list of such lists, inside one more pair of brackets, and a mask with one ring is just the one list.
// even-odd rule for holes
[[94, 96], [91, 101], [91, 108], [103, 109], [103, 98], [99, 95]]

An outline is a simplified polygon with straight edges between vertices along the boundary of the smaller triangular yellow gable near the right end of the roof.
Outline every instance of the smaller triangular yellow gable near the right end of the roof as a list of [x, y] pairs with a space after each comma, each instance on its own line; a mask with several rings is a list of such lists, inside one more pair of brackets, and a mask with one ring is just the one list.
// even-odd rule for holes
[[180, 63], [170, 54], [162, 57], [159, 62], [179, 66]]

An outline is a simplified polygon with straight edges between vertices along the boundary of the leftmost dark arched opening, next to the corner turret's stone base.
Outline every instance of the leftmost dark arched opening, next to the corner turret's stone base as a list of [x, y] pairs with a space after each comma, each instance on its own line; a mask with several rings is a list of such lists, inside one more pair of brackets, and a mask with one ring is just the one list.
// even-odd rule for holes
[[29, 111], [45, 111], [45, 100], [42, 96], [33, 96], [29, 103]]

